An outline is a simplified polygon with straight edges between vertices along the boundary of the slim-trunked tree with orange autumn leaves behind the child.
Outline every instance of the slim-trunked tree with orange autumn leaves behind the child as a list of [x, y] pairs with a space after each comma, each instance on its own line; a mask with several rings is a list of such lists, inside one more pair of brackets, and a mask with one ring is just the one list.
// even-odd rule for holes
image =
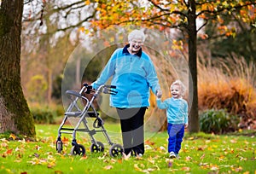
[[[87, 0], [86, 4], [95, 3]], [[231, 23], [224, 23], [222, 16], [233, 16], [253, 25], [255, 20], [255, 1], [231, 0], [177, 0], [177, 1], [97, 1], [96, 20], [91, 20], [96, 30], [115, 25], [137, 25], [145, 27], [177, 28], [189, 47], [189, 131], [199, 131], [198, 93], [197, 93], [197, 36], [198, 32], [210, 22], [217, 22], [218, 29], [226, 36], [234, 36], [236, 30]], [[197, 20], [202, 20], [198, 26]], [[255, 24], [254, 24], [255, 25]]]

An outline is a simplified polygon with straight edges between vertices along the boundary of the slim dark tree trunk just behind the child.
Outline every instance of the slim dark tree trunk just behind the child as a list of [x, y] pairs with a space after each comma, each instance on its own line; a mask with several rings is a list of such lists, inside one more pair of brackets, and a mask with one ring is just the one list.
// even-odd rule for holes
[[189, 132], [199, 131], [199, 115], [198, 115], [198, 92], [197, 92], [197, 67], [196, 67], [196, 15], [195, 0], [189, 0], [189, 16], [188, 16], [188, 32], [189, 32], [189, 103], [191, 109], [189, 113]]

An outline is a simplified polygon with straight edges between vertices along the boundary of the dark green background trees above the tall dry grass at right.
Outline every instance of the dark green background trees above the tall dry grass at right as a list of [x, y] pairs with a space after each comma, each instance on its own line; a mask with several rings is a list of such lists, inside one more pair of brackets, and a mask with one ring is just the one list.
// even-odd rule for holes
[[[253, 10], [251, 10], [253, 12]], [[243, 12], [247, 13], [247, 12]], [[255, 12], [254, 12], [255, 13]], [[255, 19], [255, 15], [252, 16]], [[219, 23], [210, 23], [206, 27], [207, 39], [206, 42], [211, 43], [212, 58], [227, 57], [234, 58], [236, 55], [241, 55], [247, 62], [256, 60], [256, 27], [253, 23], [248, 24], [237, 19], [235, 16], [223, 16], [224, 26], [232, 20], [231, 28], [236, 32], [232, 32], [230, 36], [226, 36], [222, 31], [218, 31]], [[230, 19], [231, 18], [231, 19]], [[252, 20], [253, 22], [253, 20]]]

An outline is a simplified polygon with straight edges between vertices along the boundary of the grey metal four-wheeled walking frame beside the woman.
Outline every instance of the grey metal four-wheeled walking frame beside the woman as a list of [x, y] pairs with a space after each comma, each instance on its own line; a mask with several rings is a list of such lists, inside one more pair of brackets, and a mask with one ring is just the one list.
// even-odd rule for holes
[[[77, 132], [86, 132], [89, 134], [90, 142], [91, 142], [91, 145], [90, 145], [91, 153], [103, 152], [104, 151], [103, 143], [97, 142], [96, 138], [94, 137], [96, 133], [102, 132], [108, 144], [111, 146], [111, 148], [109, 148], [110, 156], [117, 157], [123, 154], [123, 147], [111, 141], [110, 137], [108, 136], [108, 132], [104, 127], [104, 122], [99, 116], [99, 113], [96, 112], [96, 108], [93, 105], [93, 102], [96, 100], [97, 96], [100, 93], [116, 95], [117, 91], [113, 90], [115, 88], [116, 86], [103, 84], [97, 90], [93, 90], [92, 86], [88, 84], [83, 84], [83, 87], [79, 92], [74, 90], [66, 91], [67, 96], [69, 96], [70, 98], [73, 98], [73, 100], [67, 107], [67, 112], [64, 113], [65, 117], [62, 120], [58, 130], [58, 138], [56, 141], [56, 150], [58, 153], [61, 153], [61, 151], [63, 150], [63, 142], [61, 141], [61, 134], [72, 134], [73, 147], [71, 148], [71, 154], [84, 156], [85, 148], [82, 144], [79, 144], [77, 142], [77, 139], [76, 139]], [[88, 97], [85, 97], [83, 95], [84, 93], [92, 94], [91, 99], [89, 100]], [[85, 103], [83, 106], [84, 108], [79, 106], [79, 103], [78, 103], [79, 100], [82, 100], [83, 103]], [[65, 124], [67, 123], [67, 119], [69, 118], [79, 119], [77, 125], [75, 125], [74, 128], [64, 127]], [[89, 118], [95, 119], [93, 123], [94, 129], [90, 129], [90, 126], [88, 125]], [[84, 128], [80, 128], [80, 125], [84, 126]]]

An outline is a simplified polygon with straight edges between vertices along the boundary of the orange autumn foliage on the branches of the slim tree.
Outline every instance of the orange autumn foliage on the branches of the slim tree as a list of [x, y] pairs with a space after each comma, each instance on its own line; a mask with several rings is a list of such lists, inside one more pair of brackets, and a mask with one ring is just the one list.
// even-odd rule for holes
[[[86, 4], [90, 0], [85, 1]], [[210, 1], [195, 4], [197, 18], [217, 21], [221, 25], [224, 20], [222, 14], [236, 15], [244, 22], [250, 23], [255, 19], [255, 4], [252, 1]], [[240, 9], [240, 13], [232, 13]], [[159, 25], [159, 30], [163, 31], [166, 27], [176, 27], [179, 25], [189, 26], [188, 13], [191, 7], [184, 1], [166, 3], [165, 1], [104, 1], [98, 3], [96, 10], [99, 18], [91, 22], [91, 27], [105, 29], [108, 26], [132, 24], [135, 26], [152, 27]], [[185, 25], [184, 25], [185, 24]], [[224, 26], [223, 26], [224, 27]], [[226, 33], [227, 32], [227, 33]], [[220, 28], [220, 34], [234, 36], [233, 32]]]

